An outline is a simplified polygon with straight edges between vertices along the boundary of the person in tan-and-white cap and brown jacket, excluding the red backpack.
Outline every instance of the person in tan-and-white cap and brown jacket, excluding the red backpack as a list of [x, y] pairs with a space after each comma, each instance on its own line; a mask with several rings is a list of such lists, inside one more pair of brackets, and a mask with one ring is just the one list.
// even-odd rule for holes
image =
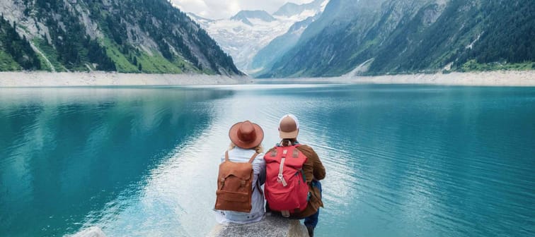
[[[307, 158], [302, 169], [304, 171], [306, 183], [309, 186], [309, 200], [304, 210], [301, 212], [294, 212], [290, 217], [294, 219], [304, 219], [304, 224], [309, 231], [309, 236], [313, 236], [313, 230], [318, 224], [319, 208], [323, 207], [323, 202], [321, 202], [321, 183], [319, 181], [325, 178], [326, 171], [318, 154], [314, 152], [312, 147], [308, 145], [299, 145], [297, 135], [299, 135], [299, 120], [297, 117], [293, 114], [282, 116], [279, 121], [279, 136], [282, 141], [277, 146], [287, 147], [297, 145], [296, 149]], [[266, 152], [266, 154], [270, 154], [270, 152]]]

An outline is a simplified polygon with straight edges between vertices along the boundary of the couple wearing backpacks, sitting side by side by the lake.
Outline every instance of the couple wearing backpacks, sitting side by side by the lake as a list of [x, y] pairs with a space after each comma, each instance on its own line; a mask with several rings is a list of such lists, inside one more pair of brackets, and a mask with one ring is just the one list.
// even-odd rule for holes
[[[262, 128], [250, 121], [234, 124], [231, 145], [222, 156], [217, 181], [216, 219], [220, 224], [260, 221], [267, 212], [304, 219], [309, 236], [318, 224], [321, 183], [326, 175], [318, 154], [297, 142], [299, 121], [282, 116], [282, 141], [263, 153]], [[264, 190], [260, 187], [265, 184]], [[267, 205], [264, 205], [264, 197]]]

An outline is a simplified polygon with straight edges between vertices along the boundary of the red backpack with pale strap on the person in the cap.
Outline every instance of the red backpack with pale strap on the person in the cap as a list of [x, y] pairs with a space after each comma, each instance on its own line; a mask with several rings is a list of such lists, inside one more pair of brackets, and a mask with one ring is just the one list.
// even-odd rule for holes
[[303, 211], [308, 203], [309, 185], [303, 171], [307, 158], [297, 150], [298, 146], [277, 146], [264, 156], [265, 200], [270, 209], [285, 217]]

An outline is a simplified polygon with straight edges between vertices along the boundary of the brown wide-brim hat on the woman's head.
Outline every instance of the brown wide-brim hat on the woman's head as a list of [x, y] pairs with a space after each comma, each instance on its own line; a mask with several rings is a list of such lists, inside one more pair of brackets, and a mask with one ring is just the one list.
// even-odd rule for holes
[[231, 127], [229, 138], [236, 146], [243, 149], [250, 149], [262, 143], [264, 131], [256, 123], [243, 121]]

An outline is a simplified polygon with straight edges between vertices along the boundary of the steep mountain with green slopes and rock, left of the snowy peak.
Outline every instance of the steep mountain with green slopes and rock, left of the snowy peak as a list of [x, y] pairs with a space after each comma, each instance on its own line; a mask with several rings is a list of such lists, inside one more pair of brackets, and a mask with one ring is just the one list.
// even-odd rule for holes
[[242, 74], [166, 0], [4, 0], [0, 12], [0, 71]]

